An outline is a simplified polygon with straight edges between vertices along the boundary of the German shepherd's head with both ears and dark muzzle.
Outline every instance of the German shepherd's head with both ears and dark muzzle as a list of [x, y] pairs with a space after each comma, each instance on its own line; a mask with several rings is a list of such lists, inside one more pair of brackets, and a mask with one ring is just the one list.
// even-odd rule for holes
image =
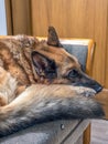
[[82, 71], [78, 60], [65, 51], [53, 27], [48, 28], [47, 41], [36, 44], [32, 52], [33, 68], [42, 83], [72, 84], [94, 89], [102, 86]]

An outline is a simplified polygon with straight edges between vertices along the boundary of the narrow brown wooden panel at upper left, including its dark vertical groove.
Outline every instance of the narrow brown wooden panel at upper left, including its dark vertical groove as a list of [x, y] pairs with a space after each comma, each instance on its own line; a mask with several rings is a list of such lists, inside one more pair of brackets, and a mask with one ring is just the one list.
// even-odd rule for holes
[[6, 0], [8, 34], [31, 34], [30, 0]]

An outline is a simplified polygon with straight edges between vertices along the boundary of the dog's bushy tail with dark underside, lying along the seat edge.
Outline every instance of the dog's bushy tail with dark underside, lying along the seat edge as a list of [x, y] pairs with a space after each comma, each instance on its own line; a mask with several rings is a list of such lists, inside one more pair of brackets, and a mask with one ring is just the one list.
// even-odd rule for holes
[[36, 99], [33, 96], [32, 100], [25, 95], [29, 95], [28, 91], [9, 105], [0, 107], [0, 137], [39, 123], [104, 116], [98, 102], [82, 95], [62, 97], [44, 95]]

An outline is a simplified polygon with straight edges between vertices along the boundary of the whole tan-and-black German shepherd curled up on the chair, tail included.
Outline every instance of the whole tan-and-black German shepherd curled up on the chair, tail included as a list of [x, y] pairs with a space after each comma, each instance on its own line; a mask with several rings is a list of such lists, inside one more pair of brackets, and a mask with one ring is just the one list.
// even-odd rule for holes
[[0, 39], [0, 137], [54, 120], [101, 117], [91, 97], [101, 90], [63, 49], [53, 27], [47, 41]]

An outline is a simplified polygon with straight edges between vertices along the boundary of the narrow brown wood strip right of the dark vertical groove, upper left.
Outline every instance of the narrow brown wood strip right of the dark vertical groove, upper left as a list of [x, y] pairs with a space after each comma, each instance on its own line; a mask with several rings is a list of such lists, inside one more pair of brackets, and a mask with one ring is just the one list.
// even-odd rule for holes
[[13, 34], [31, 34], [30, 0], [11, 0]]

